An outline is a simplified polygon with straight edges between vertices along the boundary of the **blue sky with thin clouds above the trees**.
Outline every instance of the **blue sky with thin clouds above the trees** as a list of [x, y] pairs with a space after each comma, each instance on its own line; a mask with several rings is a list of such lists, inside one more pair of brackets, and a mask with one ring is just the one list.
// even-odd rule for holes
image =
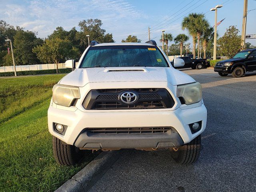
[[[0, 20], [11, 25], [37, 31], [41, 38], [47, 37], [57, 26], [66, 30], [78, 28], [80, 20], [98, 18], [114, 40], [120, 42], [129, 34], [147, 40], [148, 26], [151, 38], [160, 44], [162, 29], [175, 37], [187, 34], [180, 27], [188, 12], [205, 13], [214, 25], [214, 12], [210, 8], [223, 4], [218, 9], [218, 21], [226, 18], [219, 26], [222, 36], [228, 26], [242, 30], [244, 0], [0, 0]], [[248, 0], [248, 10], [256, 8], [255, 0]], [[246, 34], [256, 34], [256, 10], [248, 14]], [[191, 41], [191, 39], [190, 39]], [[256, 45], [256, 39], [246, 40]]]

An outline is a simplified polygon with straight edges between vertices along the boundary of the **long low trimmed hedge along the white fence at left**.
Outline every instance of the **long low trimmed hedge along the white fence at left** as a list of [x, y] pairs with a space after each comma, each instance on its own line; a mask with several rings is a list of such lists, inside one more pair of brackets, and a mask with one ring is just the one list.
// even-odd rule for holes
[[[71, 69], [58, 69], [59, 73], [70, 73]], [[54, 74], [56, 73], [56, 69], [46, 69], [46, 70], [33, 70], [33, 71], [17, 71], [18, 76], [20, 75], [40, 75], [40, 74]], [[14, 76], [14, 72], [2, 72], [0, 73], [0, 77], [5, 76]]]

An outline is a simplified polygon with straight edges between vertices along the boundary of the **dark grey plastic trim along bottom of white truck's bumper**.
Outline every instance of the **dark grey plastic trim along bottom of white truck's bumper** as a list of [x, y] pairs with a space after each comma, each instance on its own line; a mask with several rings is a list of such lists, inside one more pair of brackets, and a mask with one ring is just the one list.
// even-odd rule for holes
[[146, 149], [173, 148], [184, 144], [180, 135], [169, 130], [165, 133], [90, 133], [86, 129], [74, 145], [86, 149]]

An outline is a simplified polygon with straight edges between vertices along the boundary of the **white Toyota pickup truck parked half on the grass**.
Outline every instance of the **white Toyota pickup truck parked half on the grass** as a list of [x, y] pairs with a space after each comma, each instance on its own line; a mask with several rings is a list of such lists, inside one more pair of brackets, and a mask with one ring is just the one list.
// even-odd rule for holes
[[84, 150], [122, 148], [166, 148], [178, 163], [196, 162], [207, 116], [202, 87], [154, 40], [92, 41], [77, 67], [65, 64], [75, 69], [54, 85], [48, 109], [58, 164], [78, 163]]

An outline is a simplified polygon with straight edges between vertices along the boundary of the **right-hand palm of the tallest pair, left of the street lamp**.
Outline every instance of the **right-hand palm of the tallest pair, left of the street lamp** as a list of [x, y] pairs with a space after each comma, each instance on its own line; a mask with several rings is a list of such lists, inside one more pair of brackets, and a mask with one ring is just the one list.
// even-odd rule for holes
[[200, 38], [204, 31], [210, 27], [209, 22], [204, 18], [204, 14], [197, 14], [194, 20], [196, 26], [196, 37], [197, 37], [197, 57], [200, 57]]

